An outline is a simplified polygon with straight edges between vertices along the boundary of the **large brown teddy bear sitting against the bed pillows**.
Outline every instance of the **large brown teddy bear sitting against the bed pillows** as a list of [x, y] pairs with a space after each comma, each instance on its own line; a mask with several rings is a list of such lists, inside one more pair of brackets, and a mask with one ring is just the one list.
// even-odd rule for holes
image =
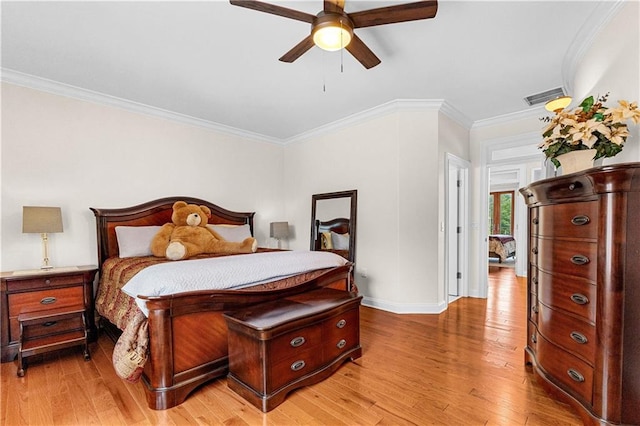
[[151, 252], [156, 257], [171, 260], [187, 259], [203, 253], [253, 253], [258, 248], [255, 238], [244, 241], [226, 241], [207, 227], [211, 210], [207, 206], [176, 201], [171, 221], [162, 225], [151, 241]]

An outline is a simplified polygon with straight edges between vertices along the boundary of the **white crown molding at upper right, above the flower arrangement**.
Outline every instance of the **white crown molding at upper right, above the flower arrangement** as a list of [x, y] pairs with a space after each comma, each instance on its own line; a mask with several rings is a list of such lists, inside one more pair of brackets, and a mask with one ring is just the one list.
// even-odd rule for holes
[[573, 94], [573, 79], [587, 50], [589, 50], [602, 29], [618, 13], [625, 1], [631, 0], [607, 0], [599, 2], [578, 30], [562, 61], [562, 84], [567, 94]]

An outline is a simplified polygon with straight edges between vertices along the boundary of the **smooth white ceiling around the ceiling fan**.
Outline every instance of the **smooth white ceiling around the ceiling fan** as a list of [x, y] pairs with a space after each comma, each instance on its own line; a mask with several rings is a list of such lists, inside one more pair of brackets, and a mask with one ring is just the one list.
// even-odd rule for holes
[[279, 62], [309, 25], [226, 1], [3, 1], [2, 68], [281, 141], [394, 100], [444, 100], [474, 122], [563, 86], [567, 51], [602, 4], [441, 0], [434, 19], [357, 29], [382, 60], [366, 70], [316, 47]]

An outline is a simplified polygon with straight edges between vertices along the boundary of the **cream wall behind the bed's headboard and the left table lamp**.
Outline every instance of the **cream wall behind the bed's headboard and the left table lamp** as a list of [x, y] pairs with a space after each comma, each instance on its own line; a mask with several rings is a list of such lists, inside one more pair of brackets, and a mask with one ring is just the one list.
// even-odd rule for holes
[[89, 207], [185, 195], [256, 211], [256, 237], [284, 217], [282, 147], [2, 84], [0, 268], [38, 268], [40, 235], [22, 234], [22, 206], [62, 207], [55, 266], [96, 264]]

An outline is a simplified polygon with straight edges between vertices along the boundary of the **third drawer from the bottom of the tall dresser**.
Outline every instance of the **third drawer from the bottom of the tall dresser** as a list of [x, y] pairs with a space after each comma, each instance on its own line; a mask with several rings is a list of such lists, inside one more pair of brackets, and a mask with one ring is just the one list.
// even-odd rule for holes
[[538, 271], [538, 298], [547, 306], [596, 321], [597, 287], [586, 280], [567, 279]]

